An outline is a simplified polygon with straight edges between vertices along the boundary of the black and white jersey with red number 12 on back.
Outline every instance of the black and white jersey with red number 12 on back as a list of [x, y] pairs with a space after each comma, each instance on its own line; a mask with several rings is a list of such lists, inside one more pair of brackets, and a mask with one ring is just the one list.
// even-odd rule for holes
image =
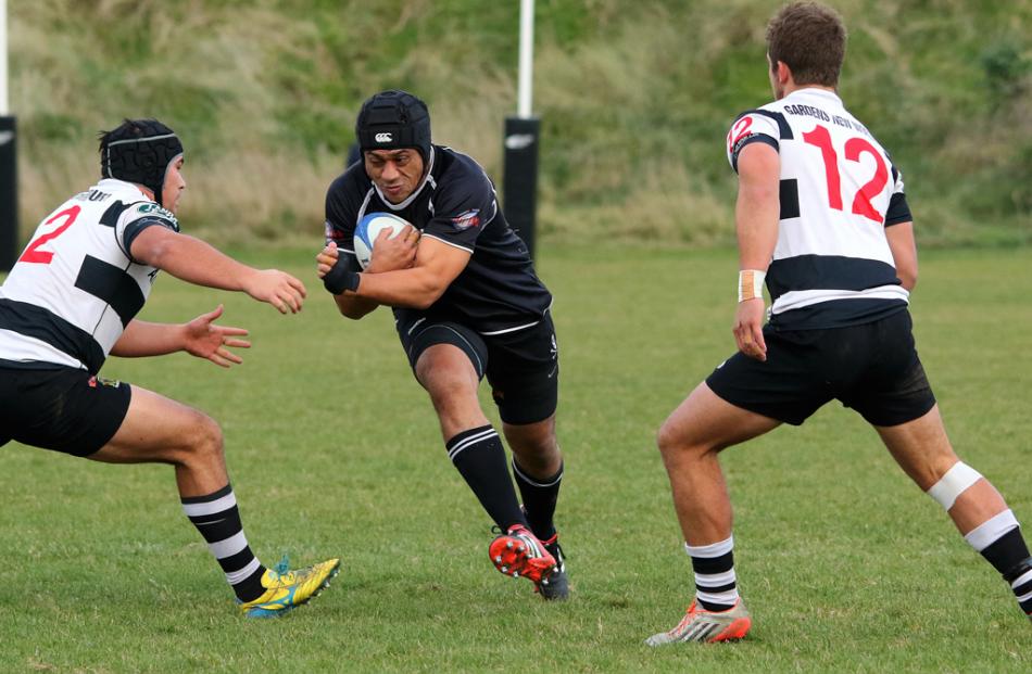
[[728, 133], [738, 170], [763, 142], [781, 158], [781, 219], [767, 270], [770, 325], [836, 328], [906, 307], [885, 228], [910, 221], [889, 153], [828, 90], [804, 88], [739, 115]]

